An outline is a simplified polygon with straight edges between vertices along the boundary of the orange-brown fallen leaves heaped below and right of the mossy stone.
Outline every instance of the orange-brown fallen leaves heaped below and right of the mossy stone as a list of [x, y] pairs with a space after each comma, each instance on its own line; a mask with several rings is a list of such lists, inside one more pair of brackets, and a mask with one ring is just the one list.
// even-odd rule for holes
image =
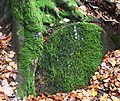
[[107, 52], [89, 86], [69, 93], [30, 95], [23, 101], [120, 101], [120, 49]]

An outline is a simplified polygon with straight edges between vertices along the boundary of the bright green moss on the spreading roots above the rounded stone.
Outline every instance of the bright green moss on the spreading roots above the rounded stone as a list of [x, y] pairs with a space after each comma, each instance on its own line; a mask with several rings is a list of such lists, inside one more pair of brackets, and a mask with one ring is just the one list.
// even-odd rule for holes
[[[89, 17], [84, 16], [80, 10], [76, 10], [77, 4], [75, 0], [38, 0], [36, 1], [37, 7], [40, 8], [41, 14], [43, 15], [42, 21], [43, 24], [48, 28], [51, 23], [54, 23], [54, 27], [61, 26], [62, 24], [59, 21], [62, 21], [64, 18], [69, 18], [70, 23], [76, 22], [75, 16], [72, 15], [74, 12], [79, 21], [90, 21]], [[62, 10], [58, 10], [58, 7]], [[49, 17], [46, 15], [50, 15]], [[64, 25], [64, 24], [63, 24]]]

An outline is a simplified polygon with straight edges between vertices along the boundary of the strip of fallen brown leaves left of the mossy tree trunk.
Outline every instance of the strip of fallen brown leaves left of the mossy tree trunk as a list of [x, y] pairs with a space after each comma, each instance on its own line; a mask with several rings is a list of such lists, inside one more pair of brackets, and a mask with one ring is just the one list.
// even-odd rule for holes
[[17, 64], [13, 61], [16, 53], [10, 51], [11, 34], [0, 32], [0, 101], [13, 101], [17, 92]]

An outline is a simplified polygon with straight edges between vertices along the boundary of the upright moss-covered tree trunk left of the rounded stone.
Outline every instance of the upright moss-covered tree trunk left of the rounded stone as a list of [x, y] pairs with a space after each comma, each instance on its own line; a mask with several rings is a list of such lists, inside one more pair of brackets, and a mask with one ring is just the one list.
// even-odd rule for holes
[[[13, 39], [18, 55], [18, 93], [35, 95], [34, 77], [37, 57], [42, 50], [44, 26], [35, 0], [12, 0]], [[39, 33], [39, 36], [36, 35]], [[41, 34], [41, 35], [40, 35]]]

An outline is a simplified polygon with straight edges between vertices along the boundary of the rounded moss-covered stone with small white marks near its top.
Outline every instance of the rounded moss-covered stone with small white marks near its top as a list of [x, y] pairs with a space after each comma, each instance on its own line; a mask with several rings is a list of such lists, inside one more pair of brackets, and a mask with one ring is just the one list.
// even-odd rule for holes
[[52, 34], [39, 61], [39, 92], [68, 92], [87, 86], [103, 54], [113, 48], [107, 37], [99, 26], [85, 22], [65, 26]]

